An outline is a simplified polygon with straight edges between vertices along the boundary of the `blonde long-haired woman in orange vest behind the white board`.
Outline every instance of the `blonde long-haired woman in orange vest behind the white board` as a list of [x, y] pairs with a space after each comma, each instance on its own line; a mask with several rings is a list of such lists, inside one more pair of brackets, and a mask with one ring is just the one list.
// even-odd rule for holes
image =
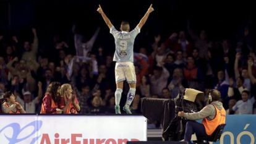
[[61, 105], [65, 114], [77, 114], [80, 111], [77, 96], [72, 92], [73, 90], [70, 84], [65, 83], [61, 85], [61, 96], [62, 100], [64, 99], [64, 104]]

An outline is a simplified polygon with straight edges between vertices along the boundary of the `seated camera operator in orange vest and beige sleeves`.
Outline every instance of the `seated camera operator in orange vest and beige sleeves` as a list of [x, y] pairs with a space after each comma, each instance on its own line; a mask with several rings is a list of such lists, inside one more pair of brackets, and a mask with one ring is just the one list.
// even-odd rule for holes
[[[211, 90], [208, 97], [207, 106], [201, 111], [195, 113], [178, 112], [179, 117], [184, 117], [188, 120], [186, 124], [184, 140], [190, 142], [193, 133], [197, 137], [209, 136], [215, 131], [220, 124], [226, 122], [226, 111], [221, 103], [221, 94], [218, 90]], [[203, 119], [202, 124], [195, 120]]]

